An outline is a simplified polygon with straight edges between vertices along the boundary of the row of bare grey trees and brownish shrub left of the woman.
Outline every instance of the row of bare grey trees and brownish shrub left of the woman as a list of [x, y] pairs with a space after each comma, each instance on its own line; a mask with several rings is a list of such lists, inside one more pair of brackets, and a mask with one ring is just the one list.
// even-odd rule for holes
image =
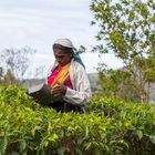
[[0, 83], [1, 84], [19, 84], [28, 78], [38, 78], [43, 74], [44, 66], [35, 66], [33, 73], [33, 56], [37, 50], [25, 46], [22, 49], [4, 49], [0, 52]]

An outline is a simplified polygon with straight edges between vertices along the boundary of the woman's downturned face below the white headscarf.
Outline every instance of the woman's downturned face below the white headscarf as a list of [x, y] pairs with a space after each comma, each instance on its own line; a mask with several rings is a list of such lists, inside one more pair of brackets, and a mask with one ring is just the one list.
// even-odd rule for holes
[[53, 52], [60, 66], [64, 66], [65, 64], [70, 63], [73, 56], [72, 53], [66, 53], [60, 49], [54, 49]]

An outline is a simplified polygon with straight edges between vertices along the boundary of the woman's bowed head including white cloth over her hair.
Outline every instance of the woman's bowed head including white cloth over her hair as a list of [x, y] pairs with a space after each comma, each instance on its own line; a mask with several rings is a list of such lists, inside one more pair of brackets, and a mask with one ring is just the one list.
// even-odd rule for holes
[[60, 66], [71, 62], [73, 58], [73, 44], [69, 39], [58, 39], [53, 44], [54, 56]]

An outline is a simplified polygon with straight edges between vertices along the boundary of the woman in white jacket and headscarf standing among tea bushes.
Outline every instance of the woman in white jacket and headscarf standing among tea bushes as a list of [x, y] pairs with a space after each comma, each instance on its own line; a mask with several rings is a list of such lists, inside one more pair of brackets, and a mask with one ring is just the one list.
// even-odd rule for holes
[[54, 96], [63, 100], [52, 103], [56, 111], [83, 111], [91, 99], [90, 82], [80, 56], [69, 39], [58, 39], [53, 44], [55, 63], [48, 76]]

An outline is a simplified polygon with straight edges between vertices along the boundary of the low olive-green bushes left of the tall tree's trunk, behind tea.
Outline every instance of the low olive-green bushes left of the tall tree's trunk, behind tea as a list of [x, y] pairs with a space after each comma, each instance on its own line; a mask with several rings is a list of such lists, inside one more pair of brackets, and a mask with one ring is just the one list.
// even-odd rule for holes
[[136, 83], [130, 71], [123, 69], [112, 70], [102, 65], [102, 68], [99, 66], [99, 75], [102, 95], [140, 102], [141, 97], [135, 89]]

